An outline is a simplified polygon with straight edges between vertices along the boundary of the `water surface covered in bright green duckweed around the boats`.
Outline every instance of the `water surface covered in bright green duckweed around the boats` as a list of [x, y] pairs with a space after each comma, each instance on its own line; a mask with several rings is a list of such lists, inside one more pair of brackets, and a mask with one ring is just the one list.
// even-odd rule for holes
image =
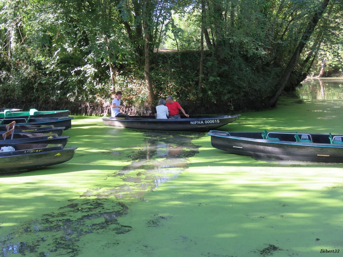
[[[221, 130], [343, 134], [339, 97], [304, 97], [318, 88]], [[205, 133], [115, 129], [94, 117], [76, 117], [64, 135], [79, 147], [70, 161], [0, 177], [2, 256], [343, 251], [342, 164], [230, 155]]]

